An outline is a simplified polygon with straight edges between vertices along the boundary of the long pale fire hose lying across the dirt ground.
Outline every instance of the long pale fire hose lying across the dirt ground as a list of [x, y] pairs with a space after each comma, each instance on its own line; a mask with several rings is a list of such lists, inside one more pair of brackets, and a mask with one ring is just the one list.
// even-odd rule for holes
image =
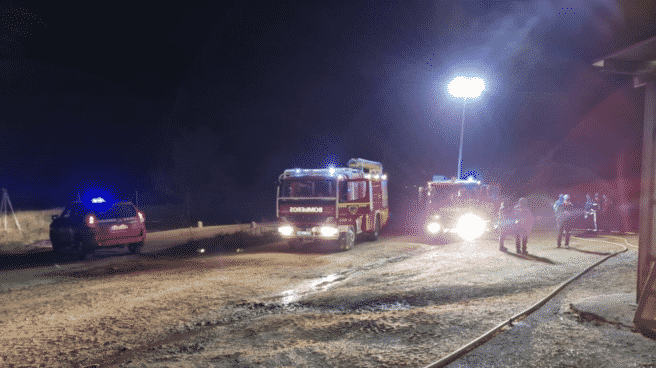
[[[581, 239], [585, 239], [585, 238], [581, 238]], [[588, 239], [585, 239], [585, 240], [588, 240]], [[526, 310], [524, 310], [524, 311], [510, 317], [505, 322], [500, 323], [499, 325], [497, 325], [496, 327], [494, 327], [491, 330], [487, 331], [486, 333], [479, 336], [475, 340], [473, 340], [473, 341], [469, 342], [468, 344], [462, 346], [460, 349], [452, 352], [451, 354], [443, 357], [442, 359], [440, 359], [436, 362], [430, 363], [429, 365], [425, 366], [424, 368], [442, 368], [442, 367], [446, 367], [447, 365], [449, 365], [449, 364], [453, 363], [454, 361], [460, 359], [461, 357], [465, 356], [466, 354], [468, 354], [472, 350], [476, 349], [477, 347], [479, 347], [479, 346], [483, 345], [484, 343], [488, 342], [489, 340], [491, 340], [494, 336], [496, 336], [497, 332], [499, 332], [502, 328], [504, 328], [506, 326], [512, 326], [512, 324], [514, 322], [520, 321], [520, 320], [524, 319], [525, 317], [528, 317], [533, 312], [540, 309], [549, 300], [551, 300], [554, 296], [556, 296], [559, 292], [561, 292], [565, 287], [567, 287], [572, 282], [576, 281], [579, 277], [583, 276], [585, 273], [587, 273], [591, 269], [593, 269], [593, 268], [599, 266], [600, 264], [606, 262], [608, 259], [610, 259], [612, 257], [615, 257], [616, 255], [624, 253], [627, 250], [629, 250], [628, 247], [626, 247], [622, 244], [605, 242], [603, 240], [596, 240], [596, 241], [601, 241], [603, 243], [609, 243], [609, 244], [613, 244], [613, 245], [619, 245], [619, 246], [623, 247], [624, 250], [621, 250], [621, 251], [615, 252], [615, 253], [611, 253], [608, 256], [601, 259], [600, 261], [597, 261], [592, 266], [586, 268], [585, 270], [579, 272], [577, 275], [573, 276], [569, 280], [567, 280], [567, 281], [563, 282], [562, 284], [560, 284], [556, 289], [554, 289], [554, 291], [552, 291], [546, 297], [542, 298], [537, 303], [533, 304], [533, 306], [531, 306], [530, 308], [528, 308], [528, 309], [526, 309]], [[624, 241], [627, 242], [626, 239], [624, 239]]]

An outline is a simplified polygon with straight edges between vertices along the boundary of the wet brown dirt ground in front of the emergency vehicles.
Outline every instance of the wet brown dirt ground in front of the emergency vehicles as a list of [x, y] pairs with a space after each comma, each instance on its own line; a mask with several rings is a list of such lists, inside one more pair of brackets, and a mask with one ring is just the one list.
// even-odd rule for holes
[[[434, 245], [387, 237], [343, 253], [291, 253], [278, 243], [12, 271], [0, 293], [0, 365], [423, 366], [526, 309], [598, 253], [621, 249], [596, 239], [574, 239], [570, 250], [554, 245], [552, 234], [538, 234], [531, 256], [519, 257], [498, 252], [492, 239]], [[456, 363], [656, 366], [656, 342], [568, 308], [585, 296], [634, 291], [635, 248], [611, 260], [548, 303], [548, 313], [522, 321], [519, 337], [504, 332], [485, 345], [491, 350]], [[27, 274], [48, 282], [19, 282]], [[20, 286], [7, 287], [9, 275]]]

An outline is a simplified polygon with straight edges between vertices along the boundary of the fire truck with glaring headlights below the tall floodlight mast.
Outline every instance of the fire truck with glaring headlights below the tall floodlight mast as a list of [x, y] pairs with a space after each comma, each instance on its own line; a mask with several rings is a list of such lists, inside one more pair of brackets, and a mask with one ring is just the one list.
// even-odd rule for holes
[[489, 186], [473, 178], [434, 176], [419, 187], [418, 200], [422, 237], [429, 240], [475, 240], [490, 229], [498, 209]]

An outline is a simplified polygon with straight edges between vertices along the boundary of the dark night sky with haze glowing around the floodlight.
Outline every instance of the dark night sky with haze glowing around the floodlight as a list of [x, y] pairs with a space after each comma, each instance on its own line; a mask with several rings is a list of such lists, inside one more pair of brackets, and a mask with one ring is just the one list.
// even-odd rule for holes
[[17, 208], [98, 182], [272, 217], [282, 170], [351, 157], [382, 162], [401, 198], [455, 175], [462, 102], [446, 85], [460, 74], [487, 83], [466, 105], [464, 172], [513, 196], [640, 174], [643, 91], [591, 64], [656, 35], [651, 1], [3, 0], [0, 12], [0, 179]]

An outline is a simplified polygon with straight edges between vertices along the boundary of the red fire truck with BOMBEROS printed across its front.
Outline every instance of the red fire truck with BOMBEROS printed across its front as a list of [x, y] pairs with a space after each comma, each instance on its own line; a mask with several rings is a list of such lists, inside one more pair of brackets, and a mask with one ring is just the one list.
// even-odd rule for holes
[[358, 234], [378, 239], [389, 218], [387, 174], [379, 162], [354, 158], [348, 167], [288, 169], [278, 178], [278, 232], [290, 247], [337, 240], [341, 250]]

